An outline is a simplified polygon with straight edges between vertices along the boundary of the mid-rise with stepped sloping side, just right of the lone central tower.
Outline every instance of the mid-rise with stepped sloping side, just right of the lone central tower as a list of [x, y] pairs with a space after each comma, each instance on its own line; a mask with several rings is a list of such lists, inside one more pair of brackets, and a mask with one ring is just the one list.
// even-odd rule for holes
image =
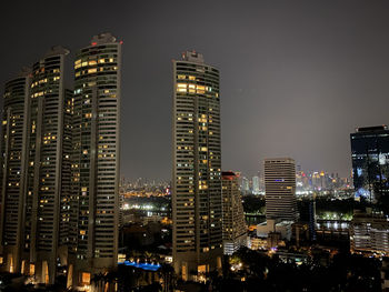
[[225, 254], [232, 254], [247, 245], [247, 225], [238, 175], [231, 171], [222, 172], [222, 202], [223, 250]]

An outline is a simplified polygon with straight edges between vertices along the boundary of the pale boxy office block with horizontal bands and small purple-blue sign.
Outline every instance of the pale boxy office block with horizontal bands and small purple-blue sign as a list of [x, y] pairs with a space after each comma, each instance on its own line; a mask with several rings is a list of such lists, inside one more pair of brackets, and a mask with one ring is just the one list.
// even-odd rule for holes
[[266, 159], [266, 218], [296, 221], [296, 167], [290, 158]]

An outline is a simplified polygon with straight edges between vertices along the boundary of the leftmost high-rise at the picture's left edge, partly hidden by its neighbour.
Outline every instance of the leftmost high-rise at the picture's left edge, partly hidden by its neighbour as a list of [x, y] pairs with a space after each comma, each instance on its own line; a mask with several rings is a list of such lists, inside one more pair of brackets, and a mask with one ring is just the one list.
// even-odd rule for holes
[[23, 250], [24, 193], [22, 172], [26, 171], [27, 118], [31, 72], [26, 69], [6, 83], [1, 123], [1, 254], [9, 272], [21, 271]]

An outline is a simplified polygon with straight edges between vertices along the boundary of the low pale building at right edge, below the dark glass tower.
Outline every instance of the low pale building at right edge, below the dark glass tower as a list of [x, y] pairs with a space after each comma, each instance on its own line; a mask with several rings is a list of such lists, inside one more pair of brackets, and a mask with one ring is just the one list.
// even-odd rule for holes
[[355, 211], [350, 224], [350, 250], [353, 253], [389, 255], [389, 221], [381, 214]]

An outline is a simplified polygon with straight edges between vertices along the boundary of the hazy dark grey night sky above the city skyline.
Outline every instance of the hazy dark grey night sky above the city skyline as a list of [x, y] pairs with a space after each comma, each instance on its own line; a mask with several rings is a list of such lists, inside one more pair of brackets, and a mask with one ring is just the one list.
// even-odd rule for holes
[[[349, 175], [349, 133], [389, 123], [389, 1], [7, 1], [0, 84], [53, 44], [123, 40], [121, 175], [171, 177], [172, 64], [220, 69], [222, 168], [291, 157]], [[71, 56], [72, 58], [72, 56]]]

